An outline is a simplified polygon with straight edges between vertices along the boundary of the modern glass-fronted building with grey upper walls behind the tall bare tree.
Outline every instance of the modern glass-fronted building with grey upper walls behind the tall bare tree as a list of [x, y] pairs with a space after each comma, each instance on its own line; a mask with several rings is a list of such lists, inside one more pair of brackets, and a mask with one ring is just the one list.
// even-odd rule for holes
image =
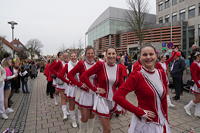
[[[128, 31], [128, 10], [109, 7], [107, 8], [89, 27], [86, 35], [88, 45], [93, 45], [94, 40], [110, 35], [109, 44], [111, 44], [111, 35], [117, 34], [119, 31]], [[148, 14], [145, 17], [146, 24], [156, 22], [156, 16]]]

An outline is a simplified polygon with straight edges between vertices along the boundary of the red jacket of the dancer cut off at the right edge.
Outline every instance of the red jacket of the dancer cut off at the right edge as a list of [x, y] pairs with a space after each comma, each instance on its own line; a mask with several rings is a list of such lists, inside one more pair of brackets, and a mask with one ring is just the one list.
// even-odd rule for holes
[[198, 65], [198, 62], [193, 61], [190, 66], [191, 76], [192, 80], [194, 80], [195, 84], [198, 88], [200, 88], [200, 66]]

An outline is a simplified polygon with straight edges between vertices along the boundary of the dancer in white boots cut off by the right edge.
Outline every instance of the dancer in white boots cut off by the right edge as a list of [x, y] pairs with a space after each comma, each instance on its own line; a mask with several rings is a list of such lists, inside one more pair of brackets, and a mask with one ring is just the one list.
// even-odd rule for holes
[[192, 80], [194, 85], [191, 87], [195, 98], [191, 100], [184, 109], [188, 115], [191, 116], [191, 108], [195, 106], [194, 115], [200, 117], [200, 52], [195, 53], [195, 60], [190, 66]]

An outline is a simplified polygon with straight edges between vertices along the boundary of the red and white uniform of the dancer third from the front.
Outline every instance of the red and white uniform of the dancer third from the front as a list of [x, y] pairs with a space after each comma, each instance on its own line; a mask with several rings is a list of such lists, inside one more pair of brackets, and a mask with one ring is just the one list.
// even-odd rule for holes
[[[89, 64], [87, 61], [79, 61], [77, 65], [68, 73], [67, 77], [70, 79], [72, 84], [76, 85], [77, 88], [77, 95], [75, 98], [76, 104], [78, 104], [80, 107], [84, 108], [92, 108], [94, 105], [94, 93], [92, 91], [88, 91], [87, 88], [82, 88], [83, 85], [82, 82], [78, 81], [75, 76], [76, 74], [79, 74], [80, 76], [88, 70], [90, 67], [92, 67], [95, 63]], [[95, 76], [90, 77], [90, 81], [94, 83]]]

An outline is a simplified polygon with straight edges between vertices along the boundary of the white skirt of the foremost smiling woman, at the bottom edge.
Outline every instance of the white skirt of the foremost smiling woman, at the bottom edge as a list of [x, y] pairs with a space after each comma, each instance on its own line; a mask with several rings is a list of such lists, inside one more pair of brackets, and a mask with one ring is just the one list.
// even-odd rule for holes
[[[169, 124], [165, 121], [166, 133], [171, 133]], [[131, 124], [128, 133], [163, 133], [164, 126], [154, 122], [146, 122], [139, 119], [135, 114], [132, 115]]]

